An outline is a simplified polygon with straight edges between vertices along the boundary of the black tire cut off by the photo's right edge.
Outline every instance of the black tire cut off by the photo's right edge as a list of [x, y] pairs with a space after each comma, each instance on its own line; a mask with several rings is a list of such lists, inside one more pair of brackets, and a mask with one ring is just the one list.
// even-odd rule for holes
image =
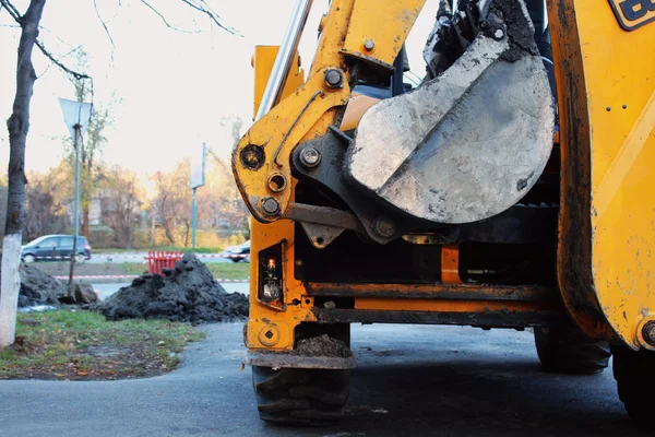
[[641, 426], [655, 429], [652, 397], [655, 393], [655, 352], [612, 347], [614, 376], [619, 399], [628, 415]]

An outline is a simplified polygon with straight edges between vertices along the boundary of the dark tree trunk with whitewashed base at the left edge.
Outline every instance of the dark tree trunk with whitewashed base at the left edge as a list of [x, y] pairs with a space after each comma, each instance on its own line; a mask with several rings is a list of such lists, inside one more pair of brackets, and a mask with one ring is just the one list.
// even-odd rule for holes
[[23, 15], [19, 59], [16, 66], [16, 95], [13, 113], [7, 120], [9, 130], [9, 184], [7, 221], [2, 244], [2, 287], [0, 290], [0, 347], [13, 344], [16, 329], [16, 308], [21, 288], [21, 244], [25, 220], [25, 145], [29, 130], [29, 103], [36, 81], [32, 51], [38, 36], [38, 24], [46, 0], [32, 0]]

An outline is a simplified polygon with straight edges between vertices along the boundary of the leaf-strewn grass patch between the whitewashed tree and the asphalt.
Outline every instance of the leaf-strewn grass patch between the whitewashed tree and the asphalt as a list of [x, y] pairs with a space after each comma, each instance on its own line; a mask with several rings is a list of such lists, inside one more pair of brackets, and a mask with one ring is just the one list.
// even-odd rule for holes
[[61, 309], [19, 314], [16, 342], [0, 351], [0, 379], [119, 379], [172, 370], [188, 342], [204, 338], [188, 323], [107, 321]]

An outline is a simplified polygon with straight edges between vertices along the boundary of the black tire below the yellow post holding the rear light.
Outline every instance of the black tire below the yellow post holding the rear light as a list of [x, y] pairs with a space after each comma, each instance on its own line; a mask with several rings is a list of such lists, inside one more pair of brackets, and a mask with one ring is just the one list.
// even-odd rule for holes
[[350, 390], [350, 370], [273, 370], [252, 366], [252, 385], [262, 421], [327, 426], [343, 416]]

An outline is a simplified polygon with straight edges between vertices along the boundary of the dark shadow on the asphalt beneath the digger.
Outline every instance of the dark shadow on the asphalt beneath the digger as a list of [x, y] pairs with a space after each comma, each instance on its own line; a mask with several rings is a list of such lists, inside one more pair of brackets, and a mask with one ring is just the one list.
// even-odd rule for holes
[[[627, 417], [611, 369], [560, 376], [543, 373], [534, 361], [475, 358], [362, 364], [352, 375], [352, 394], [340, 426], [295, 430], [331, 437], [652, 435]], [[270, 435], [289, 430], [263, 426]]]

